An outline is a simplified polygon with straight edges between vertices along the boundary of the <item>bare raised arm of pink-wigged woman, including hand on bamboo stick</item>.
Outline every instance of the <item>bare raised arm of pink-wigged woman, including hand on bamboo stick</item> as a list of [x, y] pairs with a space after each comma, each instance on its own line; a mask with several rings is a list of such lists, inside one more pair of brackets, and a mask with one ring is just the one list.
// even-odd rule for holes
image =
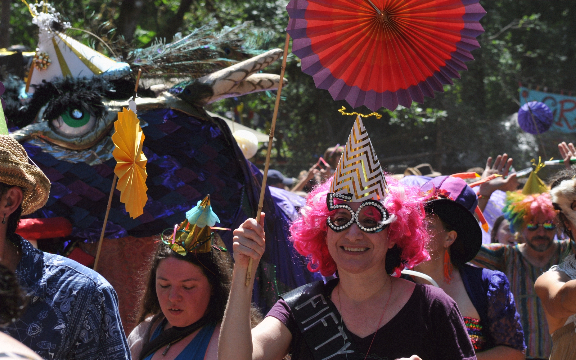
[[279, 360], [288, 352], [292, 335], [286, 325], [274, 317], [267, 317], [251, 329], [250, 306], [254, 276], [249, 286], [244, 285], [248, 261], [254, 260], [252, 274], [264, 254], [264, 213], [260, 223], [247, 219], [234, 230], [234, 272], [232, 287], [222, 320], [218, 339], [219, 360]]

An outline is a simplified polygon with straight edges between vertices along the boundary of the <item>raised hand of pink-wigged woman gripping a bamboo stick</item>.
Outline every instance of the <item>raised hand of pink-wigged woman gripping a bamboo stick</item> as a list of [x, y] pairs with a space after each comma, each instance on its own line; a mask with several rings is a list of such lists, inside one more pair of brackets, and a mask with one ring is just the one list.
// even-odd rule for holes
[[248, 268], [250, 257], [255, 262], [260, 260], [266, 249], [266, 234], [264, 234], [264, 213], [261, 213], [260, 223], [249, 218], [234, 230], [232, 249], [234, 249], [234, 267]]

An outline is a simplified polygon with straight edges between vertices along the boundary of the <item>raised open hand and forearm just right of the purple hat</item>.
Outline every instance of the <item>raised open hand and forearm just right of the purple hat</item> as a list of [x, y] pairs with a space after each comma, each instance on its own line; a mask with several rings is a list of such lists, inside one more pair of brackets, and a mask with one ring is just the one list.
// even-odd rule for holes
[[513, 191], [518, 187], [516, 174], [513, 173], [508, 176], [508, 172], [512, 166], [512, 160], [512, 158], [508, 157], [508, 154], [498, 155], [494, 164], [492, 164], [491, 156], [486, 160], [486, 168], [484, 168], [484, 172], [482, 173], [482, 179], [494, 174], [502, 176], [498, 176], [480, 185], [480, 191], [478, 192], [478, 207], [480, 210], [484, 211], [484, 209], [486, 209], [486, 204], [492, 192], [496, 190]]

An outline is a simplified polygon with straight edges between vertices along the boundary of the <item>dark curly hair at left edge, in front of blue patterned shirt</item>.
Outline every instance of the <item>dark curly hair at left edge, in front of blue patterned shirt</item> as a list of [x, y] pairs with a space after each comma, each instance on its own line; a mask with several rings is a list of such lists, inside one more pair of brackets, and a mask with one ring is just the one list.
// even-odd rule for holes
[[18, 319], [24, 306], [24, 295], [13, 271], [0, 265], [0, 327]]

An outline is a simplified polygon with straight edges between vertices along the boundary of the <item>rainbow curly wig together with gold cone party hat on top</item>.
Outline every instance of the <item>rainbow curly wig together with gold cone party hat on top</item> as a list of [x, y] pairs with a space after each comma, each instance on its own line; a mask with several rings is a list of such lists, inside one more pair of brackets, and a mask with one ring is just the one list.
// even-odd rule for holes
[[536, 175], [544, 165], [539, 164], [530, 173], [524, 188], [506, 193], [506, 205], [502, 209], [504, 217], [510, 222], [510, 232], [520, 232], [528, 223], [532, 222], [538, 214], [544, 214], [548, 219], [556, 217], [556, 210], [552, 204], [548, 187]]

